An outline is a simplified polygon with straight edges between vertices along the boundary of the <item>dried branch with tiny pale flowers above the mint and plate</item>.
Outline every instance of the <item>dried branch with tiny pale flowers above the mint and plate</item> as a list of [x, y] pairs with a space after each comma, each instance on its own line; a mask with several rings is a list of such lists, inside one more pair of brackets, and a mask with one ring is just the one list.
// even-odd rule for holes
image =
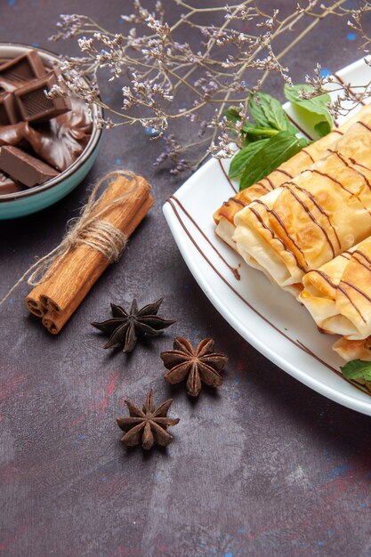
[[[58, 33], [52, 39], [77, 37], [82, 55], [62, 59], [60, 85], [51, 94], [73, 94], [89, 105], [101, 105], [107, 116], [98, 125], [140, 124], [151, 139], [163, 137], [165, 149], [155, 164], [170, 161], [171, 172], [178, 174], [195, 168], [210, 152], [222, 149], [219, 156], [233, 154], [231, 133], [238, 142], [241, 123], [230, 130], [223, 116], [225, 109], [237, 104], [246, 119], [249, 93], [262, 87], [271, 73], [290, 83], [288, 69], [281, 62], [285, 54], [327, 16], [349, 16], [344, 3], [337, 0], [324, 5], [319, 0], [305, 0], [281, 19], [278, 10], [265, 13], [254, 0], [203, 8], [183, 0], [167, 0], [175, 11], [182, 11], [177, 20], [168, 23], [161, 2], [149, 11], [141, 0], [133, 0], [133, 13], [121, 16], [123, 33], [101, 28], [84, 15], [61, 15]], [[356, 27], [361, 26], [358, 13], [351, 12]], [[206, 25], [200, 23], [200, 17], [205, 20], [205, 16], [210, 21]], [[299, 31], [301, 20], [307, 24]], [[178, 39], [184, 26], [188, 28], [187, 42]], [[282, 36], [287, 37], [286, 45], [282, 48], [280, 41], [278, 50], [277, 39]], [[82, 79], [86, 76], [91, 79], [89, 85]], [[120, 83], [121, 109], [101, 101], [99, 84], [104, 78]], [[319, 92], [323, 85], [319, 76], [313, 83]], [[180, 118], [197, 126], [194, 140], [188, 144], [173, 134], [172, 123]], [[198, 158], [190, 161], [186, 151], [192, 149], [198, 150]]]

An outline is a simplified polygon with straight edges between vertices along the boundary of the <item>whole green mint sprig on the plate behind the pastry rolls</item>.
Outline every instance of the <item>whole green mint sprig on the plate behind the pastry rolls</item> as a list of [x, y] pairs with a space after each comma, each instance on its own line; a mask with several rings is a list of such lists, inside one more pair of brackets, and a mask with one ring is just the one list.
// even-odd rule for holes
[[[286, 98], [300, 106], [306, 115], [316, 118], [314, 129], [323, 137], [333, 125], [327, 109], [330, 97], [324, 94], [302, 99], [301, 91], [310, 88], [310, 85], [285, 85]], [[281, 103], [270, 94], [251, 94], [247, 106], [254, 123], [249, 120], [242, 126], [240, 133], [244, 148], [232, 158], [229, 172], [230, 178], [240, 178], [240, 190], [262, 180], [309, 142], [297, 137], [299, 130], [291, 124]], [[231, 124], [241, 120], [238, 107], [230, 107], [225, 116]]]

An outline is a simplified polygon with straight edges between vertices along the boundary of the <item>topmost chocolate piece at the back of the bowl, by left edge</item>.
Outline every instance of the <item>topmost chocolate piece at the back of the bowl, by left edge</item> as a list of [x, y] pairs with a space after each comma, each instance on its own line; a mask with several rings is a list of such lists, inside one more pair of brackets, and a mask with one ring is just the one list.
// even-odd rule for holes
[[36, 51], [26, 52], [0, 66], [0, 85], [6, 89], [2, 84], [4, 80], [5, 85], [19, 87], [31, 79], [44, 76], [45, 73], [46, 69], [39, 54]]

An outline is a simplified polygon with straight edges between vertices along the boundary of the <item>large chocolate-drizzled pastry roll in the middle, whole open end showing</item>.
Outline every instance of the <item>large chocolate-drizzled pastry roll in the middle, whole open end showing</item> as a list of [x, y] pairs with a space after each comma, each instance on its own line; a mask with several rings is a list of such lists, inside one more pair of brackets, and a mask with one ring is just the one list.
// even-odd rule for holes
[[247, 263], [280, 287], [371, 235], [371, 115], [327, 156], [235, 216], [233, 240]]

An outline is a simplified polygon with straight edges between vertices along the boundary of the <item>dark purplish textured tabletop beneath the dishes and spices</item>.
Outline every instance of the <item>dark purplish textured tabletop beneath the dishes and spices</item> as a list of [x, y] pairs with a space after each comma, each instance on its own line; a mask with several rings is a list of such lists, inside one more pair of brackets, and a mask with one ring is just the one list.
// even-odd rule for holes
[[[201, 5], [201, 0], [193, 0]], [[116, 28], [119, 0], [1, 0], [1, 40], [50, 47], [58, 13]], [[295, 4], [276, 0], [276, 5]], [[355, 3], [354, 3], [355, 4]], [[315, 62], [359, 57], [343, 20], [325, 23], [287, 56], [296, 81]], [[73, 44], [52, 49], [74, 52]], [[281, 85], [273, 86], [278, 94]], [[109, 96], [109, 95], [108, 95]], [[86, 185], [119, 164], [144, 174], [156, 204], [58, 337], [23, 307], [20, 287], [0, 313], [0, 554], [10, 557], [240, 557], [371, 554], [370, 419], [296, 382], [254, 351], [203, 295], [181, 259], [161, 206], [177, 184], [155, 174], [158, 151], [139, 128], [104, 133], [88, 179], [43, 213], [0, 223], [1, 289], [55, 246]], [[89, 322], [109, 302], [165, 296], [165, 335], [130, 357], [102, 350]], [[214, 336], [230, 356], [222, 388], [189, 400], [162, 379], [173, 335]], [[269, 342], [269, 339], [267, 339]], [[125, 398], [174, 396], [175, 440], [163, 452], [126, 450], [115, 418]]]

